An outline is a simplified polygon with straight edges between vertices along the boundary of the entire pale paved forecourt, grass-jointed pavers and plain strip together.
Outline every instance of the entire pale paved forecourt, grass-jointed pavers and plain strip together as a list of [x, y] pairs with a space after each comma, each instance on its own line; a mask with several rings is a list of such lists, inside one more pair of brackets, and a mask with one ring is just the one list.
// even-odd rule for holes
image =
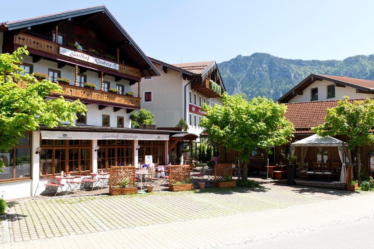
[[[108, 243], [109, 248], [209, 248], [374, 218], [365, 208], [374, 204], [371, 194], [351, 196], [352, 192], [326, 190], [321, 196], [339, 197], [327, 200], [289, 190], [210, 188], [19, 200], [10, 203], [9, 215], [1, 223], [0, 248], [68, 248], [75, 244], [102, 248], [100, 245]], [[341, 216], [353, 210], [347, 203], [367, 196], [371, 202], [363, 202], [362, 212]], [[338, 202], [346, 202], [346, 207], [337, 208]], [[308, 215], [313, 213], [318, 215]], [[248, 236], [239, 236], [239, 231]]]

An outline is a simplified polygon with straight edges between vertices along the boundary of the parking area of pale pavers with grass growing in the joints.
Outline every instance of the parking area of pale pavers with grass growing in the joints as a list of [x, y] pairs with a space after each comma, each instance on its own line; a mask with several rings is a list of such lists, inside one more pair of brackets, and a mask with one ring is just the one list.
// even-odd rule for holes
[[12, 203], [13, 241], [92, 233], [257, 212], [320, 202], [267, 188], [208, 188], [124, 196], [82, 196]]

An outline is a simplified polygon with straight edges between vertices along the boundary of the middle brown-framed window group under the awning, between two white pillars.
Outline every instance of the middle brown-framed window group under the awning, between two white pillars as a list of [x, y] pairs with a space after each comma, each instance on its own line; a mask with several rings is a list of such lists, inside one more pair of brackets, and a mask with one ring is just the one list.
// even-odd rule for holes
[[[97, 168], [110, 169], [110, 166], [129, 166], [133, 162], [133, 140], [98, 140]], [[117, 155], [116, 155], [117, 151]]]

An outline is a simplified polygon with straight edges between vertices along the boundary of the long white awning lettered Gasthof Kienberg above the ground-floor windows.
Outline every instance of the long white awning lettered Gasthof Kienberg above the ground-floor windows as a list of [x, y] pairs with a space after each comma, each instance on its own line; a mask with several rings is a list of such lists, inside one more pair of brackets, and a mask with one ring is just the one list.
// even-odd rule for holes
[[129, 132], [77, 132], [42, 130], [42, 139], [127, 139], [127, 140], [169, 140], [165, 134], [145, 134]]

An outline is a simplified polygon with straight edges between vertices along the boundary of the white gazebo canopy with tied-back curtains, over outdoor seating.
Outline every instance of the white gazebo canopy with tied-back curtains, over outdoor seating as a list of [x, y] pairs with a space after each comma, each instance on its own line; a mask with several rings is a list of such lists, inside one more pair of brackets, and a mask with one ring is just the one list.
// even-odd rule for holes
[[[306, 157], [309, 147], [336, 147], [338, 149], [339, 157], [343, 165], [340, 171], [340, 183], [346, 183], [347, 169], [346, 169], [345, 162], [344, 162], [345, 161], [344, 149], [343, 149], [344, 146], [345, 146], [344, 142], [340, 141], [339, 139], [333, 138], [331, 136], [322, 137], [322, 136], [318, 136], [317, 134], [314, 134], [312, 136], [308, 136], [307, 138], [293, 142], [291, 144], [291, 156], [294, 155], [296, 147], [301, 147], [300, 163], [301, 163], [301, 166], [304, 167], [304, 159]], [[347, 156], [349, 156], [348, 153], [347, 153]]]

